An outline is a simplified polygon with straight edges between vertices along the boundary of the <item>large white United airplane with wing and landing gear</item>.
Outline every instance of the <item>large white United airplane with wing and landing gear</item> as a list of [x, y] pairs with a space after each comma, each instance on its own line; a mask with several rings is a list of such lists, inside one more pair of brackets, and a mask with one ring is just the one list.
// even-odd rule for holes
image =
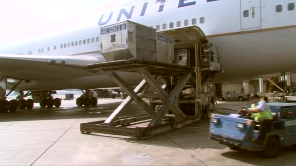
[[[6, 89], [31, 91], [34, 101], [27, 101], [29, 107], [33, 102], [42, 107], [58, 107], [60, 100], [47, 98], [51, 90], [115, 87], [104, 72], [85, 67], [106, 61], [101, 54], [100, 27], [127, 19], [153, 27], [157, 32], [198, 26], [221, 55], [223, 73], [217, 74], [213, 82], [295, 72], [295, 3], [295, 0], [129, 0], [98, 6], [75, 20], [81, 20], [86, 28], [0, 50], [0, 108], [8, 102], [3, 101]], [[129, 84], [140, 79], [131, 73], [121, 75]], [[90, 100], [87, 99], [88, 104], [96, 105]], [[80, 99], [77, 105], [81, 104]], [[16, 101], [10, 105], [16, 105]]]

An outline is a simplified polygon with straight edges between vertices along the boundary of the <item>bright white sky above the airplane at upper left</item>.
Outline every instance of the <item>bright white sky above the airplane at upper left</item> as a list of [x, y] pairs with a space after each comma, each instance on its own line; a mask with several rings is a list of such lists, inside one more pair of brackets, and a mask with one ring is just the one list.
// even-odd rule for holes
[[0, 0], [0, 44], [58, 31], [56, 24], [108, 1], [111, 0]]

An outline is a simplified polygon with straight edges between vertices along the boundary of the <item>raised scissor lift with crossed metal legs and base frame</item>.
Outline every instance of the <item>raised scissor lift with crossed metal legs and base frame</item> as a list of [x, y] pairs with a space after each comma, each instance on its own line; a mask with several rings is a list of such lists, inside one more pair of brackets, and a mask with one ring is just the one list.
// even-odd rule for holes
[[[190, 79], [192, 72], [194, 72], [193, 67], [128, 59], [90, 64], [88, 68], [105, 71], [117, 85], [128, 93], [129, 97], [127, 97], [106, 120], [81, 123], [81, 133], [105, 133], [141, 139], [181, 128], [200, 120], [199, 116], [186, 116], [178, 106], [178, 95]], [[132, 88], [116, 74], [117, 71], [139, 73], [143, 77], [143, 81], [132, 90]], [[170, 93], [167, 93], [157, 82], [156, 78], [160, 75], [174, 76], [178, 79], [177, 85]], [[157, 92], [157, 96], [163, 101], [163, 106], [157, 112], [154, 108], [150, 107], [139, 94], [143, 94], [149, 86]], [[132, 101], [140, 105], [147, 114], [119, 118], [119, 113], [126, 111], [126, 108]], [[168, 110], [173, 114], [169, 116], [173, 118], [169, 119], [174, 120], [164, 120]], [[135, 123], [147, 121], [149, 122], [147, 126], [137, 127], [135, 125]]]

